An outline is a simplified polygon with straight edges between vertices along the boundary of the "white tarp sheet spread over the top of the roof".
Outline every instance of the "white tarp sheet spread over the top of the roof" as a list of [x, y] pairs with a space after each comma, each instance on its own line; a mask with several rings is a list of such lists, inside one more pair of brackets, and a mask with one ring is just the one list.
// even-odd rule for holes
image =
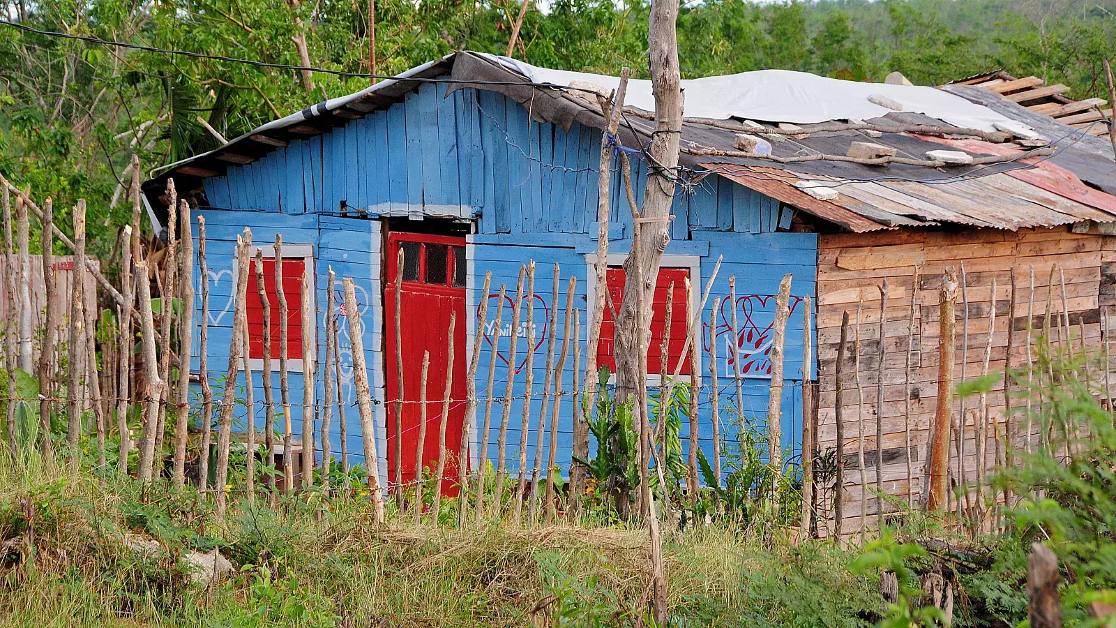
[[[615, 89], [619, 84], [615, 76], [541, 68], [508, 57], [490, 58], [499, 59], [535, 83], [569, 85], [574, 80], [585, 80], [606, 89]], [[988, 107], [933, 87], [856, 83], [785, 69], [694, 78], [683, 80], [682, 88], [687, 116], [714, 120], [737, 117], [812, 124], [830, 120], [870, 120], [894, 111], [869, 102], [868, 97], [875, 95], [898, 103], [904, 112], [922, 113], [955, 126], [992, 132], [997, 122], [1010, 122]], [[625, 104], [655, 111], [651, 82], [629, 80]]]

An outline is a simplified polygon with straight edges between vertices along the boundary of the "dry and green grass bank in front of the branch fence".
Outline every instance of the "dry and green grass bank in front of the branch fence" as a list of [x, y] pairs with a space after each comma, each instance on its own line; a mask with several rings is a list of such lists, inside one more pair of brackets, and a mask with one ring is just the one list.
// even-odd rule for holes
[[[0, 463], [0, 626], [625, 626], [650, 592], [646, 532], [561, 524], [372, 523], [359, 497], [235, 502]], [[125, 534], [165, 551], [137, 554]], [[873, 578], [833, 544], [723, 526], [667, 535], [671, 624], [863, 626]], [[191, 586], [176, 556], [219, 548], [235, 572]], [[3, 550], [0, 550], [3, 552]]]

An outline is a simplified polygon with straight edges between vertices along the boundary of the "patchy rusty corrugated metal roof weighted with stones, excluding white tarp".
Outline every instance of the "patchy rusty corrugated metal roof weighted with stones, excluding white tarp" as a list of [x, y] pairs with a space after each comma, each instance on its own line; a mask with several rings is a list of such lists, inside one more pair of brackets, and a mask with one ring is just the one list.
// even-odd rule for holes
[[[451, 85], [451, 89], [475, 87], [503, 93], [519, 103], [530, 101], [536, 120], [554, 122], [562, 129], [569, 129], [574, 122], [597, 129], [604, 124], [600, 110], [588, 99], [569, 96], [550, 85], [533, 84], [508, 67], [478, 55], [458, 53], [404, 73], [395, 80], [269, 123], [211, 153], [172, 164], [158, 179], [146, 182], [144, 189], [161, 189], [161, 180], [171, 173], [194, 180], [217, 175], [228, 165], [229, 160], [224, 158], [229, 155], [224, 153], [242, 154], [249, 161], [258, 159], [287, 141], [328, 132], [333, 126], [346, 124], [369, 111], [389, 106], [417, 87], [417, 82], [406, 80], [408, 77], [430, 78], [446, 72], [452, 72], [453, 79], [459, 82]], [[477, 83], [472, 83], [474, 80]], [[947, 89], [961, 88], [964, 86], [947, 86]], [[1006, 107], [1001, 113], [1011, 117], [1012, 112], [1019, 110], [1033, 115], [1017, 105], [1013, 107]], [[646, 145], [652, 137], [654, 122], [641, 115], [646, 114], [633, 112], [625, 117], [620, 139], [626, 145]], [[776, 121], [754, 122], [767, 123], [770, 131]], [[1023, 154], [1016, 144], [905, 132], [904, 129], [912, 129], [913, 125], [944, 125], [922, 114], [895, 112], [867, 122], [885, 132], [844, 127], [834, 131], [826, 130], [825, 125], [802, 125], [801, 134], [772, 136], [768, 133], [766, 136], [771, 140], [771, 153], [777, 158], [845, 155], [855, 141], [891, 146], [897, 156], [906, 160], [925, 160], [926, 152], [943, 146], [964, 151], [974, 158]], [[1028, 123], [1028, 120], [1022, 122]], [[735, 149], [738, 133], [762, 134], [763, 130], [747, 129], [742, 121], [687, 118], [683, 125], [680, 162], [698, 170], [709, 170], [820, 220], [857, 232], [950, 223], [1019, 229], [1081, 220], [1116, 222], [1116, 197], [1096, 189], [1116, 189], [1116, 168], [1098, 163], [1097, 160], [1103, 158], [1095, 153], [1077, 150], [1075, 137], [1070, 136], [1072, 129], [1060, 123], [1050, 124], [1049, 129], [1049, 125], [1043, 126], [1043, 135], [1048, 140], [1060, 139], [1050, 158], [931, 166], [917, 162], [872, 164], [831, 159], [779, 163]], [[887, 132], [889, 130], [894, 132]], [[1065, 130], [1065, 133], [1059, 130]], [[1065, 148], [1067, 145], [1068, 149]], [[1057, 165], [1055, 160], [1062, 165]], [[1075, 172], [1080, 172], [1081, 177]], [[1088, 178], [1094, 187], [1084, 183], [1081, 178]], [[801, 181], [833, 187], [838, 193], [833, 200], [820, 200], [795, 187]]]

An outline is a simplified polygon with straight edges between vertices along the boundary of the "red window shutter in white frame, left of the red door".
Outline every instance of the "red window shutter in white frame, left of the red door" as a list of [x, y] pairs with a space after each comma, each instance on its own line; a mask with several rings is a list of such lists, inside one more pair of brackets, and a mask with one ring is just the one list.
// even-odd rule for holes
[[[282, 287], [287, 297], [287, 359], [302, 359], [302, 315], [301, 292], [302, 270], [306, 261], [301, 258], [283, 257]], [[263, 307], [260, 304], [260, 292], [256, 284], [256, 260], [253, 259], [248, 277], [248, 294], [244, 296], [248, 314], [248, 356], [263, 358]], [[314, 286], [312, 277], [310, 286]], [[271, 359], [279, 359], [279, 297], [276, 294], [276, 261], [263, 258], [263, 289], [271, 305]], [[272, 367], [279, 369], [278, 364]]]

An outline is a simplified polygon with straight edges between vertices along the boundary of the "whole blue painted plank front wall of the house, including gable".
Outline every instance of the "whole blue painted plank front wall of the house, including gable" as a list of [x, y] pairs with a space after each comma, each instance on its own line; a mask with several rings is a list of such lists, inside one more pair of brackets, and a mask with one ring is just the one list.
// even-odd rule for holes
[[[223, 177], [205, 180], [205, 191], [213, 208], [201, 213], [209, 221], [209, 264], [211, 308], [219, 311], [229, 302], [232, 251], [235, 236], [243, 227], [251, 227], [256, 244], [271, 244], [277, 232], [282, 232], [288, 245], [304, 244], [314, 247], [316, 276], [316, 308], [318, 320], [318, 353], [324, 359], [325, 333], [321, 326], [326, 303], [326, 273], [333, 266], [337, 273], [335, 286], [340, 301], [340, 278], [350, 276], [358, 288], [358, 297], [367, 302], [364, 311], [365, 348], [373, 381], [373, 397], [381, 401], [383, 394], [383, 321], [381, 295], [381, 221], [383, 216], [412, 218], [439, 216], [475, 219], [475, 235], [469, 247], [469, 305], [475, 307], [484, 295], [480, 286], [485, 272], [491, 272], [491, 294], [499, 293], [501, 284], [514, 292], [516, 279], [522, 264], [535, 260], [536, 270], [536, 330], [545, 333], [551, 303], [551, 275], [554, 264], [559, 264], [562, 285], [559, 301], [565, 299], [566, 280], [577, 278], [574, 305], [580, 310], [584, 344], [587, 329], [586, 315], [586, 255], [596, 251], [597, 173], [595, 168], [600, 150], [600, 133], [575, 124], [569, 133], [530, 118], [529, 112], [512, 101], [489, 92], [464, 89], [445, 96], [444, 86], [424, 84], [402, 103], [386, 111], [368, 114], [362, 120], [318, 137], [291, 142], [257, 162], [231, 166]], [[634, 188], [642, 201], [646, 166], [634, 161]], [[618, 172], [613, 173], [613, 198], [609, 232], [615, 238], [613, 251], [625, 251], [629, 242], [632, 223], [623, 197]], [[338, 216], [341, 203], [349, 208], [349, 217]], [[366, 210], [366, 217], [356, 217], [355, 208]], [[815, 294], [817, 239], [812, 234], [776, 232], [790, 223], [788, 208], [758, 192], [719, 177], [708, 177], [680, 189], [674, 202], [676, 219], [672, 225], [674, 238], [667, 255], [685, 256], [700, 268], [700, 284], [713, 272], [719, 256], [723, 263], [706, 304], [703, 320], [703, 391], [701, 443], [712, 451], [712, 422], [710, 407], [712, 390], [709, 387], [708, 350], [711, 334], [708, 325], [713, 299], [729, 295], [729, 278], [735, 277], [738, 322], [742, 329], [739, 344], [751, 358], [742, 365], [751, 369], [766, 364], [769, 327], [773, 320], [778, 284], [785, 273], [793, 274], [791, 293], [796, 297], [788, 323], [786, 349], [786, 384], [783, 389], [783, 445], [797, 454], [796, 438], [800, 434], [799, 383], [801, 381], [801, 303], [804, 295]], [[196, 234], [195, 234], [196, 236]], [[199, 292], [200, 294], [200, 292]], [[200, 302], [199, 302], [200, 305]], [[564, 304], [559, 304], [562, 310]], [[228, 362], [227, 348], [232, 310], [220, 316], [211, 314], [209, 359], [211, 374], [223, 372]], [[713, 336], [718, 342], [720, 372], [720, 407], [722, 430], [732, 437], [742, 421], [763, 429], [767, 415], [770, 380], [762, 372], [749, 372], [743, 380], [743, 417], [735, 412], [735, 383], [729, 362], [731, 310], [723, 305], [718, 313]], [[496, 316], [492, 298], [489, 318]], [[214, 320], [215, 318], [215, 320]], [[523, 316], [526, 322], [526, 314]], [[510, 307], [504, 311], [504, 325], [511, 320]], [[345, 327], [344, 318], [343, 327]], [[562, 320], [558, 320], [558, 351], [561, 349]], [[475, 327], [472, 321], [470, 329]], [[677, 333], [681, 333], [676, 331]], [[509, 337], [500, 341], [499, 352], [507, 354]], [[352, 393], [352, 355], [348, 353], [347, 327], [341, 331], [343, 371], [346, 377], [346, 408], [348, 450], [354, 463], [363, 459], [359, 418]], [[759, 346], [756, 346], [759, 344]], [[465, 342], [472, 350], [472, 339]], [[519, 342], [519, 358], [526, 359], [526, 341]], [[542, 383], [546, 364], [546, 342], [536, 352], [535, 397], [529, 409], [532, 430], [538, 422], [542, 403]], [[754, 355], [752, 355], [754, 354]], [[493, 359], [491, 342], [482, 342], [478, 370], [478, 393], [487, 396], [488, 365]], [[584, 368], [583, 364], [578, 368]], [[494, 397], [502, 398], [508, 368], [497, 358]], [[196, 361], [195, 361], [196, 368]], [[278, 365], [276, 365], [278, 368]], [[509, 467], [517, 468], [520, 443], [520, 424], [523, 410], [523, 379], [526, 365], [517, 364], [514, 400], [509, 412], [508, 456]], [[573, 351], [562, 372], [566, 390], [573, 387], [575, 364]], [[257, 406], [261, 408], [261, 382], [256, 374]], [[320, 372], [318, 375], [320, 380]], [[301, 432], [301, 373], [291, 372], [291, 400], [296, 432]], [[278, 375], [275, 375], [278, 399]], [[316, 383], [316, 399], [321, 400], [321, 383]], [[561, 401], [559, 421], [559, 462], [569, 462], [573, 436], [571, 401]], [[379, 456], [384, 467], [383, 406], [376, 406], [379, 429]], [[243, 415], [243, 410], [238, 408]], [[484, 403], [478, 407], [477, 426], [483, 420]], [[492, 432], [489, 438], [489, 457], [494, 460], [496, 441], [502, 406], [497, 402], [491, 410]], [[432, 417], [431, 420], [436, 420]], [[263, 424], [262, 409], [256, 412], [257, 425]], [[547, 422], [549, 424], [549, 412]], [[338, 421], [334, 424], [334, 448], [338, 448]], [[687, 438], [683, 425], [683, 439]], [[479, 443], [479, 434], [473, 432]], [[529, 466], [535, 457], [535, 434], [528, 439]], [[474, 447], [475, 453], [477, 447]], [[475, 455], [475, 454], [474, 454]]]

